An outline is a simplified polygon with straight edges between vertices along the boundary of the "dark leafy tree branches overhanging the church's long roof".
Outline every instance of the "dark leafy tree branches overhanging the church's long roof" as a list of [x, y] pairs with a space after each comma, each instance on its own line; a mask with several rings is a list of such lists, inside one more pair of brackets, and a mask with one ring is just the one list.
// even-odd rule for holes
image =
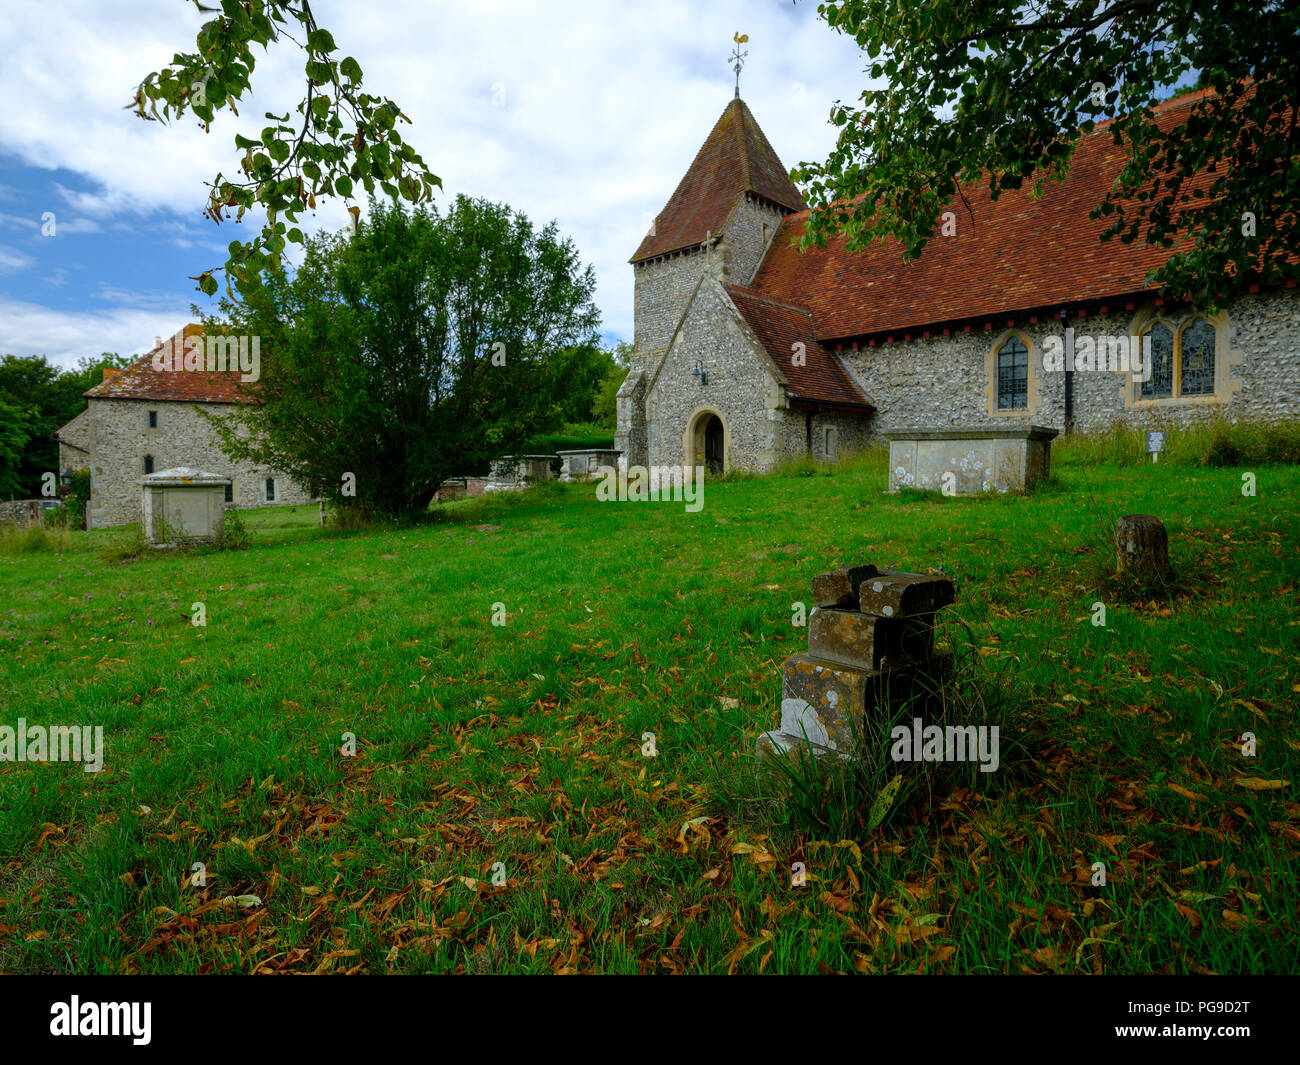
[[[814, 208], [805, 246], [892, 235], [915, 257], [961, 185], [987, 179], [994, 199], [1028, 181], [1037, 191], [1112, 118], [1130, 161], [1092, 215], [1110, 218], [1104, 239], [1175, 248], [1152, 283], [1214, 307], [1294, 269], [1300, 5], [840, 0], [818, 12], [888, 85], [859, 107], [836, 103], [835, 151], [796, 168]], [[1183, 75], [1213, 92], [1180, 125], [1158, 124], [1154, 105]]]

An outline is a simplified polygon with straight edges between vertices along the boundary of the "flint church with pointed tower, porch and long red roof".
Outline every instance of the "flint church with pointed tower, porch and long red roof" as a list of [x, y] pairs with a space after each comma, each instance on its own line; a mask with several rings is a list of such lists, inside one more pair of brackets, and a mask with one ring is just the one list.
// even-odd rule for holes
[[1216, 313], [1166, 303], [1145, 277], [1169, 251], [1104, 243], [1088, 218], [1123, 163], [1101, 126], [1040, 199], [965, 190], [970, 209], [954, 200], [913, 263], [893, 241], [800, 252], [809, 211], [737, 95], [632, 256], [615, 446], [632, 464], [770, 469], [897, 429], [1300, 416], [1295, 281]]

